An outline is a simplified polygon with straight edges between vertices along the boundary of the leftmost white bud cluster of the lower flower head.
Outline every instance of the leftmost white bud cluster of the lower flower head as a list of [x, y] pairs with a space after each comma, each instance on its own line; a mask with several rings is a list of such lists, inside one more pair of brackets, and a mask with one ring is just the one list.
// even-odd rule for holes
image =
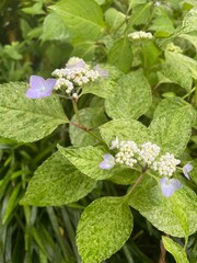
[[135, 153], [138, 151], [138, 147], [136, 142], [130, 140], [123, 140], [119, 142], [119, 151], [115, 156], [115, 162], [117, 163], [125, 163], [128, 167], [134, 167], [137, 162]]

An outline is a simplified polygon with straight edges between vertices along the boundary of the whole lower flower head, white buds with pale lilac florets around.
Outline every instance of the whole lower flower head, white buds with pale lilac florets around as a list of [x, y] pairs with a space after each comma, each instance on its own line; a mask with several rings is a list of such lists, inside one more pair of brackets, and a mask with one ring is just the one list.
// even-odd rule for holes
[[[138, 163], [143, 169], [152, 169], [161, 176], [159, 181], [160, 187], [165, 197], [170, 197], [176, 190], [183, 186], [178, 180], [172, 178], [181, 160], [170, 152], [161, 155], [161, 148], [158, 145], [150, 141], [142, 145], [137, 145], [131, 140], [119, 141], [118, 136], [116, 136], [109, 149], [115, 150], [116, 153], [114, 156], [111, 153], [104, 155], [104, 161], [100, 163], [101, 169], [109, 170], [116, 163], [125, 164], [129, 168], [134, 168]], [[189, 178], [188, 173], [192, 169], [193, 165], [189, 163], [183, 167], [183, 173], [186, 178]]]

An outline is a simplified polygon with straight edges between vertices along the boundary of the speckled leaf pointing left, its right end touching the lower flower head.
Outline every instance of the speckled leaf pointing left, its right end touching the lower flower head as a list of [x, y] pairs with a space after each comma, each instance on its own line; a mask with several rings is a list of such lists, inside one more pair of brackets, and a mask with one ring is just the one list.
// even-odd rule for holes
[[59, 151], [82, 173], [95, 180], [103, 180], [113, 175], [112, 170], [103, 170], [99, 165], [103, 161], [103, 155], [107, 151], [101, 147], [63, 148]]

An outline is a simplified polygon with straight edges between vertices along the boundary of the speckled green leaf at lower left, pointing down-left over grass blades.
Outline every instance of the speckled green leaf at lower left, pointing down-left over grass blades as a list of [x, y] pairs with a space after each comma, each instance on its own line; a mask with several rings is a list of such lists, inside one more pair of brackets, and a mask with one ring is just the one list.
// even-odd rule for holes
[[21, 205], [60, 206], [88, 195], [96, 181], [77, 170], [59, 151], [49, 157], [30, 181]]

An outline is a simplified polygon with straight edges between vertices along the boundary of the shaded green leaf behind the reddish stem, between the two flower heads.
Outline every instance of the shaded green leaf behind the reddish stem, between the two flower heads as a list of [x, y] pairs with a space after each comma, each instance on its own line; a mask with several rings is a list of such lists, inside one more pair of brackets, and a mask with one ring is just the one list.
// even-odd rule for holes
[[[85, 107], [79, 111], [80, 119], [83, 125], [94, 130], [94, 134], [100, 135], [97, 127], [107, 122], [102, 107]], [[78, 118], [73, 115], [71, 122], [78, 123]], [[71, 144], [76, 147], [96, 145], [99, 141], [89, 133], [77, 128], [73, 125], [69, 126], [69, 135]]]

